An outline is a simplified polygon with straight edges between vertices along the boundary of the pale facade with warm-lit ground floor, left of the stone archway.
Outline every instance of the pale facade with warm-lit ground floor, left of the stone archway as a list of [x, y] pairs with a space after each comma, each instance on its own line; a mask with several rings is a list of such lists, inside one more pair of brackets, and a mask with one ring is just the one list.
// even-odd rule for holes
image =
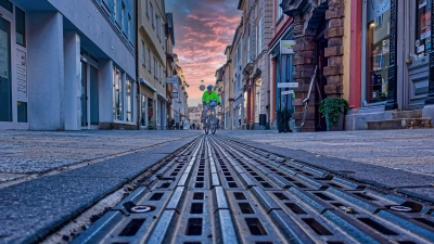
[[[238, 5], [243, 12], [245, 129], [265, 129], [270, 118], [270, 65], [267, 53], [272, 37], [272, 1], [265, 0], [240, 0]], [[259, 123], [260, 117], [265, 117], [265, 121]]]

